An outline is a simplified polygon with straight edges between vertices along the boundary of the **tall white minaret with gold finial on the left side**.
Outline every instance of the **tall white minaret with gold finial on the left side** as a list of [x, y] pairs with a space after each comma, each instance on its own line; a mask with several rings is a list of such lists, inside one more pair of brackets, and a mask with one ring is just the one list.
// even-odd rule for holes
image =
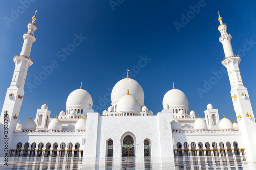
[[[25, 79], [27, 76], [28, 67], [33, 64], [33, 60], [30, 58], [30, 51], [32, 47], [32, 43], [35, 42], [36, 38], [34, 36], [34, 32], [37, 28], [35, 25], [36, 21], [36, 12], [35, 15], [32, 17], [32, 22], [28, 23], [28, 32], [23, 34], [23, 46], [22, 46], [22, 52], [20, 52], [20, 55], [16, 55], [13, 58], [13, 61], [15, 63], [15, 70], [13, 73], [13, 78], [10, 87], [7, 89], [4, 105], [1, 112], [1, 131], [3, 131], [4, 128], [2, 128], [2, 124], [8, 125], [8, 146], [10, 146], [12, 142], [12, 133], [16, 129], [17, 120], [19, 116], [20, 107], [22, 106], [22, 100], [23, 100], [23, 94], [24, 94], [24, 84]], [[5, 118], [5, 112], [7, 111], [8, 118]], [[6, 123], [8, 121], [8, 123]], [[2, 140], [4, 135], [1, 133], [1, 145], [3, 143]], [[6, 137], [6, 136], [5, 136]], [[8, 151], [10, 148], [8, 147]], [[0, 152], [3, 154], [3, 151]], [[1, 155], [1, 154], [0, 154]]]

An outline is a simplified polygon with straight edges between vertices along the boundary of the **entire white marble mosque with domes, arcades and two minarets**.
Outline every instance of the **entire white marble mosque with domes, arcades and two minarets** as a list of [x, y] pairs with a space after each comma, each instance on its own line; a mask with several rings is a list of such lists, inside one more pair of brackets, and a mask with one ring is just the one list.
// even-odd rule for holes
[[232, 36], [220, 14], [219, 41], [225, 53], [222, 64], [228, 70], [237, 123], [220, 118], [211, 104], [204, 106], [205, 118], [197, 117], [194, 111], [189, 112], [186, 94], [175, 87], [164, 95], [163, 109], [153, 115], [144, 104], [143, 88], [129, 78], [128, 71], [127, 77], [113, 87], [110, 107], [103, 113], [94, 112], [93, 99], [81, 85], [69, 94], [66, 111], [56, 118], [51, 118], [44, 104], [32, 115], [35, 119], [18, 122], [27, 70], [33, 64], [30, 51], [36, 40], [36, 13], [32, 19], [23, 35], [22, 52], [13, 59], [15, 70], [1, 112], [1, 129], [7, 126], [9, 131], [8, 137], [0, 139], [1, 145], [8, 140], [3, 145], [8, 149], [1, 150], [1, 157], [81, 157], [83, 161], [108, 157], [134, 157], [138, 161], [150, 157], [153, 162], [165, 158], [174, 162], [175, 157], [239, 156], [246, 161], [256, 160], [256, 123], [240, 75], [241, 59], [233, 53]]

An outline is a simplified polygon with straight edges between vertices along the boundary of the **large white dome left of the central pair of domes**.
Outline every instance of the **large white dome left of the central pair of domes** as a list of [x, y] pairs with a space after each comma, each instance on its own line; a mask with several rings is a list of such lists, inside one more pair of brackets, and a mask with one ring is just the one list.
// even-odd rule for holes
[[91, 95], [84, 89], [77, 89], [69, 94], [66, 102], [66, 107], [71, 107], [71, 106], [86, 107], [89, 103], [90, 104], [93, 103]]

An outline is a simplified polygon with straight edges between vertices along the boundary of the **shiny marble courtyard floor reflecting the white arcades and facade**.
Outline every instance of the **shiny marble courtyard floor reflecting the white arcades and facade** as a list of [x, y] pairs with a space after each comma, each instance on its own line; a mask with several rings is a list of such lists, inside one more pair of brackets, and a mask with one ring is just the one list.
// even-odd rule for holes
[[[83, 161], [83, 159], [86, 159]], [[11, 157], [8, 166], [1, 169], [256, 169], [255, 163], [247, 163], [245, 157], [205, 156], [168, 158], [137, 157], [82, 158], [82, 157]], [[153, 161], [154, 160], [154, 161]], [[2, 158], [0, 160], [2, 162]], [[152, 163], [155, 162], [155, 163]]]

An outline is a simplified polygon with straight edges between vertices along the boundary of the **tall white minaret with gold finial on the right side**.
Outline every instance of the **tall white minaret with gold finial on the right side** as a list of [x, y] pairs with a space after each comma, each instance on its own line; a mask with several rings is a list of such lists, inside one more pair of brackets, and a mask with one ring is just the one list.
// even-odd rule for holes
[[[218, 12], [219, 13], [219, 12]], [[222, 43], [225, 53], [225, 58], [222, 64], [227, 68], [228, 77], [231, 85], [231, 97], [234, 105], [234, 111], [238, 119], [239, 130], [243, 134], [243, 146], [245, 148], [247, 159], [256, 160], [256, 134], [255, 134], [255, 118], [251, 107], [251, 102], [247, 88], [244, 87], [240, 74], [239, 64], [240, 57], [235, 56], [231, 45], [232, 36], [227, 34], [227, 25], [222, 22], [222, 17], [219, 19], [220, 25], [218, 30], [221, 33], [219, 41]]]

